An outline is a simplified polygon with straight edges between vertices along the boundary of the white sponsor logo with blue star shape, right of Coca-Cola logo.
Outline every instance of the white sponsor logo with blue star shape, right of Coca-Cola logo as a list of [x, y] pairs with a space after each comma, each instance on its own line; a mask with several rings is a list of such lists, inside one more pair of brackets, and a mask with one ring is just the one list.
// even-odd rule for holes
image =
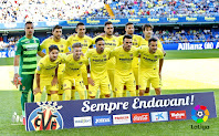
[[152, 116], [152, 122], [168, 121], [167, 112], [153, 112], [153, 113], [150, 113], [150, 116]]

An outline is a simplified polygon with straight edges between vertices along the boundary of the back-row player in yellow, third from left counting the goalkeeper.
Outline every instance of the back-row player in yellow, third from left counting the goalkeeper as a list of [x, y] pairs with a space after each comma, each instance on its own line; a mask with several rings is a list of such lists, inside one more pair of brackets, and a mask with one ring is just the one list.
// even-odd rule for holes
[[[85, 54], [88, 49], [93, 48], [93, 40], [92, 38], [85, 35], [86, 29], [84, 23], [77, 23], [75, 31], [76, 35], [73, 34], [67, 38], [67, 46], [72, 46], [74, 43], [80, 42], [82, 44], [82, 52]], [[86, 85], [86, 90], [88, 91], [86, 65], [84, 64], [81, 70], [84, 85]]]

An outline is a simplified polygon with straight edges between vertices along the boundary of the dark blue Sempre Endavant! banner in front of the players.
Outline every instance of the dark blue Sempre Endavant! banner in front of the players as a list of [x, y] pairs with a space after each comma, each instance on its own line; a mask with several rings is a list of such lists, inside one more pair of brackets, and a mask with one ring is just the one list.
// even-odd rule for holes
[[217, 117], [213, 92], [101, 100], [25, 103], [25, 129], [49, 130], [103, 125]]

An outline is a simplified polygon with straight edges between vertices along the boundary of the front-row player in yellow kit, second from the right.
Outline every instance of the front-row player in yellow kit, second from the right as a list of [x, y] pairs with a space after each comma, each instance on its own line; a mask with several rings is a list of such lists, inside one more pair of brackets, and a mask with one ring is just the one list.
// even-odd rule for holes
[[123, 96], [123, 88], [126, 85], [131, 92], [131, 96], [136, 96], [135, 77], [133, 74], [132, 63], [136, 57], [137, 49], [133, 45], [132, 35], [124, 35], [123, 45], [115, 48], [111, 53], [111, 57], [115, 56], [115, 92], [116, 97]]

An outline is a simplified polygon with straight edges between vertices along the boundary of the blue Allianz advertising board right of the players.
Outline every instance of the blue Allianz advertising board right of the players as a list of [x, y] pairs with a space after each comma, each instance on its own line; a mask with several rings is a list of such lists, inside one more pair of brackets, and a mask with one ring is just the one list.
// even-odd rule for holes
[[186, 42], [186, 43], [166, 43], [164, 50], [205, 50], [219, 49], [219, 42]]

